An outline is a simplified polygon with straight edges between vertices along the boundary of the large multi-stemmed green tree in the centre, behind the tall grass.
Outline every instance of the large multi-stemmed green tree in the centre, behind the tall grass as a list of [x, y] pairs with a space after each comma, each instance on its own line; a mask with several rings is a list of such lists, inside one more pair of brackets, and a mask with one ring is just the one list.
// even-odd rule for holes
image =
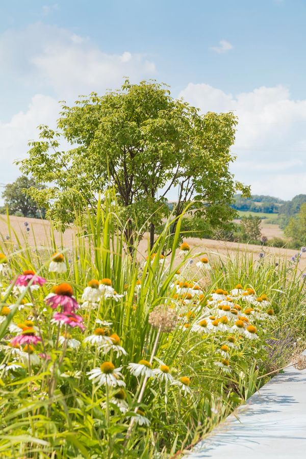
[[[95, 207], [99, 191], [114, 187], [126, 239], [133, 244], [135, 228], [148, 221], [152, 246], [173, 187], [175, 215], [189, 202], [211, 226], [236, 215], [230, 207], [234, 193], [249, 192], [229, 170], [236, 124], [233, 113], [200, 115], [173, 99], [165, 85], [126, 80], [120, 90], [82, 96], [72, 107], [63, 104], [58, 131], [40, 126], [40, 140], [30, 143], [29, 157], [17, 164], [50, 184], [30, 194], [62, 224], [73, 211]], [[61, 139], [71, 148], [61, 151]]]

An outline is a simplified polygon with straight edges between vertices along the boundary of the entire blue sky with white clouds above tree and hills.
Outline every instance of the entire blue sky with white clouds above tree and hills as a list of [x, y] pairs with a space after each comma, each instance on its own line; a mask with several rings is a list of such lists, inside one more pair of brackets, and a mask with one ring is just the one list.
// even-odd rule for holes
[[0, 0], [0, 185], [59, 100], [130, 77], [234, 111], [232, 172], [253, 194], [306, 193], [305, 22], [305, 0]]

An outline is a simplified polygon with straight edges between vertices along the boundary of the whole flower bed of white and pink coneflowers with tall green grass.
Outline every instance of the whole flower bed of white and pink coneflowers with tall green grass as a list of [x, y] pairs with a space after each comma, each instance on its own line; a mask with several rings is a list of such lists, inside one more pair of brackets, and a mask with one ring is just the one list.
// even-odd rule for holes
[[[296, 264], [127, 247], [109, 200], [69, 247], [1, 243], [0, 455], [173, 457], [305, 339]], [[141, 233], [141, 232], [140, 232]], [[15, 240], [13, 243], [12, 241]], [[168, 254], [165, 257], [165, 254]]]

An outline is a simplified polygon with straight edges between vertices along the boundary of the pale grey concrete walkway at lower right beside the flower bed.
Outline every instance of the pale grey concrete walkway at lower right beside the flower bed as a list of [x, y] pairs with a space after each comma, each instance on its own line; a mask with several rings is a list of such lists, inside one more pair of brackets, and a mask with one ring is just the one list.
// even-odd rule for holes
[[276, 375], [186, 457], [305, 459], [306, 370]]

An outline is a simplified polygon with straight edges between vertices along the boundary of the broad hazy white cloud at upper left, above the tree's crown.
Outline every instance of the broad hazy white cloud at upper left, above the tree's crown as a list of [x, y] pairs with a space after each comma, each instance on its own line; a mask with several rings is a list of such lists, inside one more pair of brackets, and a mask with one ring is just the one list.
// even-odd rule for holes
[[109, 54], [87, 37], [42, 23], [2, 34], [0, 62], [19, 84], [66, 100], [117, 89], [124, 76], [138, 82], [156, 75], [154, 62], [143, 54], [126, 49]]

